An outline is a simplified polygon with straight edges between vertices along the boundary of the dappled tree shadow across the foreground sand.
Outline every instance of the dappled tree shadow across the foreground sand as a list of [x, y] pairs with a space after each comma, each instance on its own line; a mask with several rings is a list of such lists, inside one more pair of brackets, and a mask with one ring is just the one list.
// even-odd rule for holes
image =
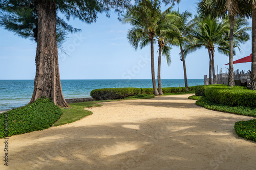
[[[144, 104], [143, 104], [144, 105]], [[229, 115], [51, 128], [10, 151], [16, 169], [253, 168], [255, 142], [237, 137]], [[75, 124], [75, 123], [74, 123]], [[47, 133], [46, 133], [47, 132]], [[10, 141], [12, 138], [10, 138]], [[236, 161], [234, 161], [236, 160]]]

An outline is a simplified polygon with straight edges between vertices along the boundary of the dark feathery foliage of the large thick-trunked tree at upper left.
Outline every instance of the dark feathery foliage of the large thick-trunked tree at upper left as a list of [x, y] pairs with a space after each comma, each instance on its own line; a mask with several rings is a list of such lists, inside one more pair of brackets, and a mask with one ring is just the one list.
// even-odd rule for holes
[[[49, 0], [50, 1], [50, 0]], [[105, 12], [110, 17], [110, 10], [114, 9], [120, 15], [131, 3], [127, 0], [91, 1], [91, 0], [54, 0], [57, 14], [62, 13], [69, 20], [71, 17], [92, 23], [97, 19], [97, 14]], [[16, 33], [23, 38], [37, 40], [37, 13], [36, 3], [29, 0], [2, 0], [0, 2], [0, 26]], [[75, 33], [80, 29], [73, 28], [64, 18], [57, 16], [57, 42], [61, 44], [68, 32]]]

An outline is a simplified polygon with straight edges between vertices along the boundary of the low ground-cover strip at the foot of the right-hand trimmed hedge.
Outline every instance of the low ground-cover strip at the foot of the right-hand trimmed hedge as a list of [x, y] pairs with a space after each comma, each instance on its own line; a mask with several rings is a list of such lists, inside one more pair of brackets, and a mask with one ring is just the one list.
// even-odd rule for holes
[[256, 108], [254, 107], [222, 105], [222, 104], [211, 102], [210, 100], [204, 97], [198, 100], [196, 104], [198, 106], [202, 106], [210, 110], [256, 117]]

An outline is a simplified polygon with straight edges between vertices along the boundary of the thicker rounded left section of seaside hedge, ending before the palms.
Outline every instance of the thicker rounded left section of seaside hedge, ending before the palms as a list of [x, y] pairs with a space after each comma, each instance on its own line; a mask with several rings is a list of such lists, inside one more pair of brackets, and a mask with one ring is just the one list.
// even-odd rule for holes
[[91, 96], [96, 101], [124, 99], [127, 96], [140, 94], [140, 88], [102, 88], [91, 91]]

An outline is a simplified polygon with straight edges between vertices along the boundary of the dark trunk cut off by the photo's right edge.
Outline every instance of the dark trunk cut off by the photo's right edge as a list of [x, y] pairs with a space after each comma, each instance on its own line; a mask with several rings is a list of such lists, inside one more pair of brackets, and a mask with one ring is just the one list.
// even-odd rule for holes
[[252, 3], [251, 89], [256, 90], [256, 3]]

